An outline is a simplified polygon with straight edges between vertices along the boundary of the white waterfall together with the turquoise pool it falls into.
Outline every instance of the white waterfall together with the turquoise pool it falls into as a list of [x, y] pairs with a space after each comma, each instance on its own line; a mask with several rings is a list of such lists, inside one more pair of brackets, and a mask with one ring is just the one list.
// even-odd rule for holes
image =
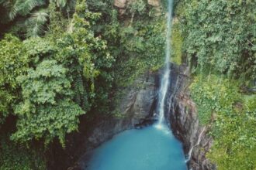
[[170, 80], [171, 14], [172, 1], [168, 0], [168, 19], [164, 74], [161, 77], [159, 119], [153, 126], [117, 134], [96, 148], [85, 169], [88, 170], [186, 170], [182, 144], [164, 121], [164, 103]]

